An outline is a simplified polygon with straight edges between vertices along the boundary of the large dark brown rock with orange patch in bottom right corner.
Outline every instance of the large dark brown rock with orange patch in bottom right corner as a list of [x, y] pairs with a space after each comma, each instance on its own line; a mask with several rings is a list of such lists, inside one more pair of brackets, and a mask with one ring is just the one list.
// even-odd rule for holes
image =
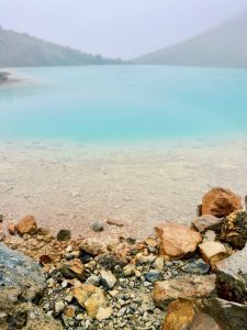
[[170, 304], [161, 330], [244, 330], [247, 306], [217, 298], [178, 299]]

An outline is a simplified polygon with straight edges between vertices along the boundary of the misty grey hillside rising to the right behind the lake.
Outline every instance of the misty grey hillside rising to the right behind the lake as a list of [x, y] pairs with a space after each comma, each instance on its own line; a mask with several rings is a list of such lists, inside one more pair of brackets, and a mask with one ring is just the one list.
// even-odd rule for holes
[[247, 12], [135, 63], [247, 68]]

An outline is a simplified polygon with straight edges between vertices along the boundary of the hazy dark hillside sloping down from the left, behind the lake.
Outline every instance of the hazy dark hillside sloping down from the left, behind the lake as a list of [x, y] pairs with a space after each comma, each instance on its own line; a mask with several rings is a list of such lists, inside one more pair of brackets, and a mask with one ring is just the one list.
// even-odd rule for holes
[[121, 63], [123, 63], [121, 59], [94, 56], [30, 36], [26, 33], [3, 30], [0, 26], [0, 67]]

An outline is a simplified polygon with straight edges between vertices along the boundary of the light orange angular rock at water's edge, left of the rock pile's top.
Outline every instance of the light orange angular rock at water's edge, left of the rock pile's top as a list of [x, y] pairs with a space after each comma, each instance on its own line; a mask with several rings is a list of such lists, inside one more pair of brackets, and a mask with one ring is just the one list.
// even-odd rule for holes
[[160, 223], [155, 231], [159, 242], [159, 254], [170, 260], [192, 254], [202, 241], [201, 234], [186, 224]]

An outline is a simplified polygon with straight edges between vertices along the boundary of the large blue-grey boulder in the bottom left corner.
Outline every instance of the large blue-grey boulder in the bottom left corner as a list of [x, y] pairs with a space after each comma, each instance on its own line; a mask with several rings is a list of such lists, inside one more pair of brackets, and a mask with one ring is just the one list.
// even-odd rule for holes
[[44, 288], [41, 266], [0, 243], [0, 329], [63, 329], [35, 305]]

